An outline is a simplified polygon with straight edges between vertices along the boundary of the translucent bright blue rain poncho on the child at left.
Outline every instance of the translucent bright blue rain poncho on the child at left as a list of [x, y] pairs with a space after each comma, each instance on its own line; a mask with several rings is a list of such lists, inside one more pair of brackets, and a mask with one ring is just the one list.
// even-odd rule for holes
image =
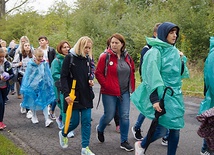
[[20, 92], [23, 94], [22, 106], [31, 110], [43, 110], [54, 102], [53, 78], [47, 62], [39, 65], [34, 59], [28, 62]]

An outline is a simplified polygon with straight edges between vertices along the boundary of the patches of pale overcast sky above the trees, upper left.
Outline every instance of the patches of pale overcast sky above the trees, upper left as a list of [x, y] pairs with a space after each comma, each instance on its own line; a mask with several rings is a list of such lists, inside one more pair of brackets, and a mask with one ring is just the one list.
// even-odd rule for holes
[[[14, 7], [14, 4], [16, 2], [20, 2], [21, 0], [9, 0], [7, 3], [6, 3], [6, 8], [7, 10], [9, 10], [10, 8], [13, 8]], [[58, 0], [60, 1], [60, 0]], [[67, 2], [67, 4], [69, 6], [72, 6], [72, 4], [74, 3], [74, 1], [76, 0], [65, 0]], [[55, 0], [30, 0], [31, 3], [28, 3], [28, 5], [25, 5], [23, 7], [34, 7], [35, 10], [37, 10], [38, 12], [42, 13], [42, 12], [46, 12], [48, 10], [48, 8], [50, 6], [52, 6], [55, 2]]]

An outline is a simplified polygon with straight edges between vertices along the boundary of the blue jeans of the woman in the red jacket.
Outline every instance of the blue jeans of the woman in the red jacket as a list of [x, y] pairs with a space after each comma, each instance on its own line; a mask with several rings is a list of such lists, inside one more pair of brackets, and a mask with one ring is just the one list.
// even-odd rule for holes
[[119, 111], [120, 124], [120, 139], [121, 143], [128, 140], [129, 132], [129, 110], [130, 110], [130, 94], [125, 92], [121, 98], [102, 94], [102, 101], [104, 107], [104, 114], [100, 119], [98, 131], [104, 132], [106, 126], [114, 118], [116, 107]]

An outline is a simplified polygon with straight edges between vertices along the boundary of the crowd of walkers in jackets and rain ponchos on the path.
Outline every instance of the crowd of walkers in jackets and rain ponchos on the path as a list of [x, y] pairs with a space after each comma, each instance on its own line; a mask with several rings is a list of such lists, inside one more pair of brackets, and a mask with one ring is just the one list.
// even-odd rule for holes
[[[184, 127], [182, 79], [189, 77], [187, 58], [175, 47], [179, 30], [179, 27], [171, 22], [155, 25], [153, 37], [146, 38], [147, 46], [141, 53], [142, 82], [137, 89], [135, 89], [134, 60], [126, 49], [124, 36], [119, 33], [108, 38], [108, 46], [100, 54], [96, 67], [92, 53], [93, 41], [88, 36], [79, 38], [73, 47], [69, 42], [61, 41], [57, 51], [48, 46], [48, 39], [45, 36], [38, 39], [40, 46], [35, 50], [32, 50], [29, 41], [23, 41], [20, 50], [22, 59], [20, 60], [19, 53], [15, 52], [12, 62], [14, 68], [20, 66], [23, 72], [18, 81], [21, 86], [20, 93], [23, 95], [20, 106], [27, 113], [30, 111], [31, 116], [28, 118], [31, 118], [32, 123], [39, 123], [37, 110], [43, 111], [46, 127], [52, 124], [51, 119], [56, 119], [62, 148], [68, 147], [69, 133], [73, 135], [73, 131], [81, 122], [81, 154], [95, 155], [89, 149], [89, 145], [91, 109], [95, 97], [93, 80], [96, 77], [101, 86], [100, 93], [104, 108], [96, 126], [99, 142], [105, 142], [106, 126], [117, 114], [121, 149], [135, 150], [135, 155], [144, 155], [148, 143], [163, 138], [162, 141], [168, 148], [167, 155], [175, 155], [180, 129]], [[7, 60], [3, 49], [0, 48], [1, 129], [6, 127], [3, 123], [3, 105], [8, 93], [7, 83], [14, 77], [13, 70], [6, 67], [10, 66], [10, 63], [4, 62]], [[72, 87], [73, 85], [75, 88]], [[161, 98], [166, 87], [171, 88], [173, 95], [167, 92], [162, 106]], [[72, 89], [75, 91], [74, 98], [70, 94]], [[138, 140], [134, 147], [128, 142], [131, 101], [140, 112], [135, 126], [131, 128], [135, 139]], [[57, 118], [54, 115], [56, 105], [60, 108], [60, 115]], [[68, 115], [66, 111], [70, 106], [72, 106], [72, 115], [67, 127], [65, 126]], [[162, 116], [158, 119], [154, 134], [150, 138], [148, 135], [143, 137], [140, 129], [142, 123], [145, 117], [154, 119], [155, 113], [161, 113]], [[201, 154], [208, 152], [209, 149], [211, 148], [203, 148]]]

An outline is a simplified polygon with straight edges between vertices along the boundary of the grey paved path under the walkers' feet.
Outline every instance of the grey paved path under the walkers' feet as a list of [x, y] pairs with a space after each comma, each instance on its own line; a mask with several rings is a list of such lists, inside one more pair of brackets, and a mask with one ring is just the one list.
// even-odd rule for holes
[[[105, 130], [105, 142], [99, 143], [96, 139], [95, 127], [103, 113], [102, 102], [98, 110], [96, 104], [98, 100], [99, 85], [94, 87], [96, 97], [92, 111], [92, 134], [90, 141], [90, 149], [96, 155], [134, 155], [133, 152], [126, 152], [120, 149], [120, 134], [115, 131], [114, 122]], [[201, 99], [185, 97], [186, 113], [185, 113], [185, 128], [180, 133], [180, 143], [177, 150], [177, 155], [199, 155], [202, 144], [202, 139], [197, 135], [199, 123], [195, 119], [198, 105]], [[32, 124], [30, 119], [26, 118], [25, 114], [20, 113], [19, 103], [16, 95], [9, 95], [9, 101], [6, 105], [4, 122], [7, 128], [0, 131], [12, 139], [18, 146], [24, 148], [29, 155], [79, 155], [81, 150], [80, 127], [75, 130], [75, 137], [69, 138], [69, 147], [62, 149], [59, 145], [57, 124], [46, 128], [42, 112], [38, 112], [38, 124]], [[59, 113], [58, 107], [56, 113]], [[131, 104], [130, 111], [130, 129], [134, 125], [139, 112]], [[142, 130], [143, 135], [146, 134], [150, 126], [150, 120], [145, 119]], [[134, 138], [129, 131], [129, 142], [134, 145]], [[147, 155], [166, 155], [167, 147], [161, 145], [161, 140], [152, 143], [148, 148]]]

